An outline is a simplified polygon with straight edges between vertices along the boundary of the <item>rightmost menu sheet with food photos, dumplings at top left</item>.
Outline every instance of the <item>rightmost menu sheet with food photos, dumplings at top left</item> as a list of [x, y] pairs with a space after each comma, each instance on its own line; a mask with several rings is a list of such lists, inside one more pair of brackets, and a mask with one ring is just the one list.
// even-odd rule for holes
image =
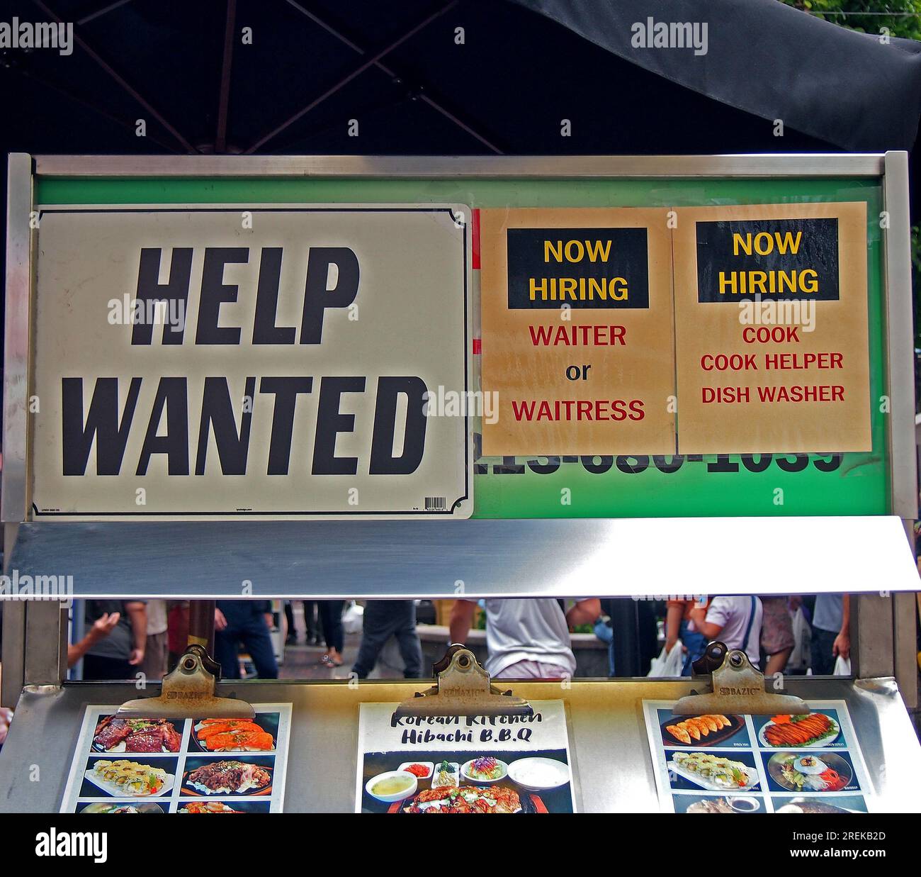
[[867, 813], [873, 789], [843, 700], [803, 715], [676, 716], [644, 700], [666, 813]]

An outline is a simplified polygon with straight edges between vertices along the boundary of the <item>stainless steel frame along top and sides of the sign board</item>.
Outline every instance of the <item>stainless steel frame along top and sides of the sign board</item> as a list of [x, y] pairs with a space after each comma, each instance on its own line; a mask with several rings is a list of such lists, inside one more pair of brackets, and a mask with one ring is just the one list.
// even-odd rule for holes
[[[917, 514], [914, 431], [914, 367], [910, 234], [908, 227], [908, 164], [904, 152], [886, 154], [624, 156], [624, 157], [235, 157], [235, 156], [40, 156], [9, 157], [6, 267], [6, 369], [4, 380], [4, 455], [0, 518], [18, 523], [28, 509], [29, 303], [31, 240], [29, 211], [36, 176], [78, 177], [356, 177], [356, 178], [688, 178], [784, 176], [878, 178], [882, 181], [888, 227], [883, 228], [886, 285], [886, 357], [892, 418], [888, 435], [892, 465], [892, 513], [906, 521]], [[892, 366], [892, 364], [897, 364]], [[151, 527], [162, 526], [152, 523]], [[884, 583], [881, 583], [884, 587]], [[914, 650], [914, 637], [897, 607], [889, 602], [889, 618], [904, 630], [894, 637], [896, 648]], [[879, 616], [880, 606], [867, 607]], [[898, 615], [899, 619], [892, 615]], [[18, 622], [17, 622], [18, 623]], [[911, 640], [911, 641], [909, 641]], [[865, 649], [868, 651], [869, 649]], [[892, 654], [892, 652], [889, 652]], [[871, 662], [882, 670], [903, 661]], [[913, 655], [914, 657], [914, 655]], [[914, 685], [911, 686], [914, 690]]]

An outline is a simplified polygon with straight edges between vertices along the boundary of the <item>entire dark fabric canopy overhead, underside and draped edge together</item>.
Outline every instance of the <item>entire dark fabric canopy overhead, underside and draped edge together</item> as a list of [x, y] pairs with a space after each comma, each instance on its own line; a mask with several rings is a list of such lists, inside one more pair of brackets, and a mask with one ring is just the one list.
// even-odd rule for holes
[[[0, 48], [0, 153], [882, 152], [921, 108], [918, 43], [778, 0], [0, 0], [14, 17], [76, 45]], [[706, 53], [635, 48], [649, 17], [705, 22]]]

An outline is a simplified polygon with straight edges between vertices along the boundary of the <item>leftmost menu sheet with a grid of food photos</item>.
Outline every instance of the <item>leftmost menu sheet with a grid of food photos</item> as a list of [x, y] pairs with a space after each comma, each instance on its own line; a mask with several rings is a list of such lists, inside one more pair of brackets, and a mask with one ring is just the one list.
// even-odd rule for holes
[[83, 716], [61, 813], [281, 813], [291, 704], [254, 719]]

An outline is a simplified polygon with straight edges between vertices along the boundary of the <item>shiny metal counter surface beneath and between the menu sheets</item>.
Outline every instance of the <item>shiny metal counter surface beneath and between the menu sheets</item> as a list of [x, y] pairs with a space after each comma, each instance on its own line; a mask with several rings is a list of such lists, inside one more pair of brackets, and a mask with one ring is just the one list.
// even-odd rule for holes
[[[577, 804], [583, 812], [659, 810], [644, 725], [644, 699], [689, 694], [699, 681], [515, 683], [519, 696], [566, 703]], [[285, 810], [351, 812], [355, 806], [358, 704], [399, 701], [424, 684], [342, 682], [220, 684], [220, 696], [291, 702]], [[787, 692], [845, 700], [876, 793], [886, 812], [921, 812], [921, 746], [892, 678], [788, 678]], [[75, 683], [25, 691], [0, 751], [0, 813], [56, 813], [74, 754], [84, 707], [121, 704], [138, 696], [132, 684]], [[158, 694], [150, 686], [147, 694]], [[38, 768], [36, 770], [36, 767]]]

